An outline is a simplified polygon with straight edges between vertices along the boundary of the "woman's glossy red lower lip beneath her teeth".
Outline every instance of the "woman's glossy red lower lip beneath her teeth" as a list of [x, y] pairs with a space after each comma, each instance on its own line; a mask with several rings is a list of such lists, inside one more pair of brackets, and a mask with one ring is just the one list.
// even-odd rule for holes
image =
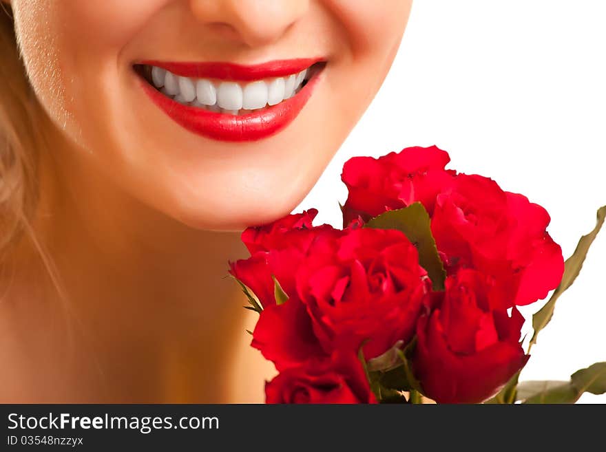
[[278, 133], [299, 115], [322, 74], [315, 74], [295, 96], [246, 115], [216, 113], [182, 105], [141, 78], [147, 96], [170, 118], [198, 135], [220, 141], [255, 141]]

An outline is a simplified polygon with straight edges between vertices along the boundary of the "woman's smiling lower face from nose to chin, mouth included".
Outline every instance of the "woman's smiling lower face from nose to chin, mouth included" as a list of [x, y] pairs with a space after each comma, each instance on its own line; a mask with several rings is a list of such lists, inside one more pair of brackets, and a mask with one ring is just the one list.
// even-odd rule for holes
[[76, 149], [56, 158], [210, 230], [303, 200], [379, 89], [411, 2], [39, 1], [44, 20], [12, 4], [17, 32], [47, 24], [21, 50]]

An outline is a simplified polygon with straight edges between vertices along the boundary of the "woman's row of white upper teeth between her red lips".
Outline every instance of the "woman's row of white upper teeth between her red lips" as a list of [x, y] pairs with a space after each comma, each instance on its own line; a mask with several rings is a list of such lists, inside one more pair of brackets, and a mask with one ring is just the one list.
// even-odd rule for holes
[[240, 84], [176, 76], [161, 67], [151, 67], [154, 85], [178, 103], [231, 114], [238, 114], [241, 109], [256, 110], [276, 105], [291, 98], [301, 88], [306, 75], [307, 69], [304, 69], [290, 76]]

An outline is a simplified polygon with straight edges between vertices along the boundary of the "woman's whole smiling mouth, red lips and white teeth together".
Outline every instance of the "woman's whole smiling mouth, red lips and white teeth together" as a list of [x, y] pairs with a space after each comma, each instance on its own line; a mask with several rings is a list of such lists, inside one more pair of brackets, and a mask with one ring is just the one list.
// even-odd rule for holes
[[225, 141], [254, 141], [288, 126], [326, 66], [322, 58], [260, 65], [144, 61], [134, 65], [160, 109], [189, 131]]

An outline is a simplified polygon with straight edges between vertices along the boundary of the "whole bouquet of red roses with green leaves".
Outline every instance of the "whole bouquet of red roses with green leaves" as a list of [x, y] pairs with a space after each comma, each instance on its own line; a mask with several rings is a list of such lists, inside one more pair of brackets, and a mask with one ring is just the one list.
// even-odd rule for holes
[[[574, 402], [606, 391], [606, 363], [518, 384], [606, 207], [565, 265], [544, 208], [449, 161], [437, 147], [352, 158], [343, 229], [313, 226], [311, 209], [242, 233], [251, 257], [230, 272], [260, 314], [251, 345], [279, 371], [267, 402]], [[525, 352], [516, 306], [553, 289]]]

